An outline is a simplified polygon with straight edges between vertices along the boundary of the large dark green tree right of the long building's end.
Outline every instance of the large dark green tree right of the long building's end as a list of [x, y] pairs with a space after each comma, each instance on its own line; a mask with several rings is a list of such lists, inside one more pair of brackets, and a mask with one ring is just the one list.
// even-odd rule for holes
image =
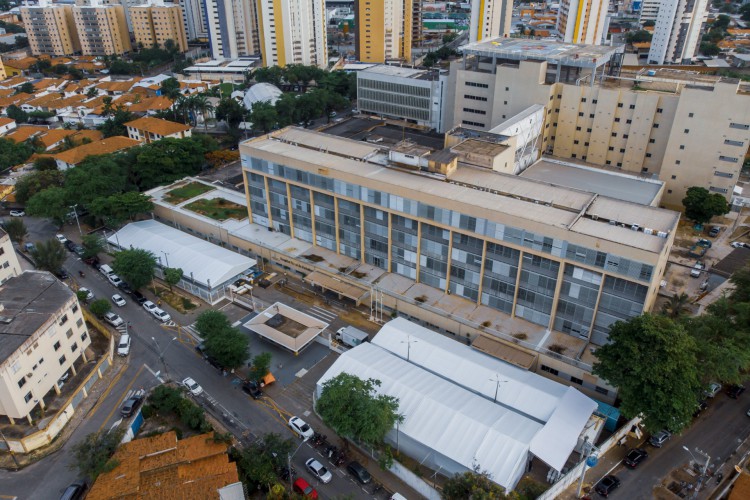
[[695, 340], [682, 325], [651, 314], [616, 322], [609, 340], [596, 350], [593, 372], [619, 388], [623, 415], [643, 415], [651, 432], [682, 430], [701, 390]]

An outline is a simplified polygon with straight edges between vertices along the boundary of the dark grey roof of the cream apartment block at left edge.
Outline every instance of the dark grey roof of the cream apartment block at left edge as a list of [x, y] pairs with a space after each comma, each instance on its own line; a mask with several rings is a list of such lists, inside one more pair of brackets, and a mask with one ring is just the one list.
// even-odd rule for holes
[[52, 274], [26, 271], [0, 286], [0, 362], [74, 297]]

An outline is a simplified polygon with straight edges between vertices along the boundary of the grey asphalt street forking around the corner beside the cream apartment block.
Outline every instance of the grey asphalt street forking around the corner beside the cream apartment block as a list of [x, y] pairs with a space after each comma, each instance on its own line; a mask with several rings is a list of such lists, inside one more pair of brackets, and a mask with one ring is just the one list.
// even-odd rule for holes
[[[58, 232], [54, 225], [46, 221], [27, 217], [25, 222], [29, 229], [27, 241], [41, 241], [53, 237]], [[96, 298], [110, 298], [112, 294], [118, 293], [103, 275], [85, 265], [74, 254], [69, 255], [65, 268], [72, 280], [91, 290]], [[81, 278], [79, 271], [84, 271], [86, 277]], [[268, 293], [271, 295], [278, 292], [269, 290]], [[148, 292], [146, 295], [149, 296]], [[273, 300], [274, 297], [268, 299]], [[71, 469], [73, 444], [81, 441], [89, 433], [116, 425], [120, 420], [119, 408], [127, 395], [136, 389], [148, 390], [155, 387], [160, 383], [159, 379], [181, 381], [188, 376], [194, 378], [204, 389], [196, 401], [224, 420], [224, 423], [237, 434], [251, 437], [275, 432], [295, 438], [287, 426], [287, 419], [293, 413], [305, 418], [305, 415], [312, 411], [311, 397], [298, 398], [291, 402], [285, 398], [284, 404], [289, 407], [288, 410], [270, 398], [265, 402], [252, 400], [239, 389], [235, 377], [223, 376], [198, 356], [194, 349], [195, 341], [187, 332], [162, 326], [141, 306], [130, 300], [129, 296], [126, 296], [126, 300], [128, 302], [125, 306], [113, 305], [113, 310], [131, 323], [129, 333], [132, 343], [129, 359], [126, 360], [127, 367], [61, 450], [19, 472], [0, 471], [0, 498], [59, 498], [64, 488], [78, 479], [77, 471]], [[163, 354], [163, 362], [160, 360], [160, 353]], [[334, 479], [328, 485], [320, 484], [305, 469], [304, 462], [310, 457], [318, 458], [327, 467], [330, 465], [309, 443], [301, 443], [293, 457], [293, 465], [298, 475], [313, 485], [322, 498], [340, 495], [373, 498], [366, 490], [355, 484], [351, 476], [338, 468], [329, 467]]]

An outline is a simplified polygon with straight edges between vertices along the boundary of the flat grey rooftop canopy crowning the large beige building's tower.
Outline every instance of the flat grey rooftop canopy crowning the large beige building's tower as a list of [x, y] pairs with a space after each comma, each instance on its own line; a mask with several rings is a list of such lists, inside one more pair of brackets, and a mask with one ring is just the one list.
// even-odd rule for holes
[[607, 64], [623, 47], [585, 45], [526, 38], [488, 38], [459, 47], [464, 55], [498, 59], [547, 61], [564, 66], [594, 68]]

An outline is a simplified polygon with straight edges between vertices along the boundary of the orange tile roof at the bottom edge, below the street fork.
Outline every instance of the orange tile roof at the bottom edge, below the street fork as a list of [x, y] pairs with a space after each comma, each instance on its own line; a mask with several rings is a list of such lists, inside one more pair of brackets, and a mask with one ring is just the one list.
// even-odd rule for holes
[[219, 498], [218, 489], [237, 483], [237, 466], [212, 434], [177, 440], [171, 431], [118, 448], [118, 465], [101, 474], [86, 498]]

